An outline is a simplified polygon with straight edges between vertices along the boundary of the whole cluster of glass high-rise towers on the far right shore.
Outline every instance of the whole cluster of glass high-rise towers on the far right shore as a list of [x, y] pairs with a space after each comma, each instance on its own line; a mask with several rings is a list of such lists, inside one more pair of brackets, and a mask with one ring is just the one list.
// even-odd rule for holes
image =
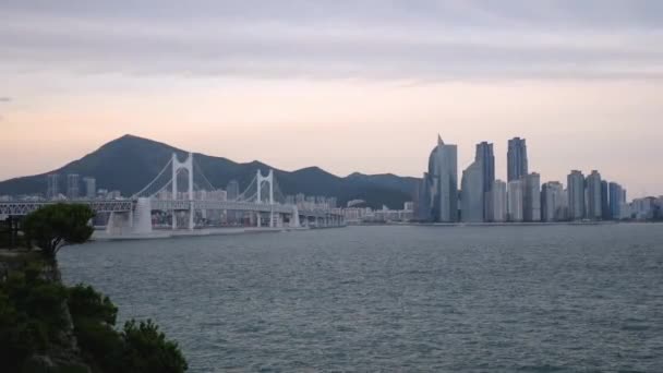
[[462, 171], [458, 191], [457, 158], [457, 146], [438, 136], [414, 197], [418, 220], [535, 222], [623, 217], [624, 189], [602, 180], [599, 171], [587, 178], [571, 171], [566, 189], [558, 181], [542, 184], [541, 176], [529, 170], [525, 139], [508, 141], [507, 182], [495, 179], [493, 144], [482, 142], [477, 144], [474, 161]]

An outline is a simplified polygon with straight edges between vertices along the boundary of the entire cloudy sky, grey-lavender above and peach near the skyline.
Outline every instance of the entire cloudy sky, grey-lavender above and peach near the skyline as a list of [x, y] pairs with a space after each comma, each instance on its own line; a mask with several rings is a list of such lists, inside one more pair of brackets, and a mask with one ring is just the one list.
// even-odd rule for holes
[[437, 134], [663, 194], [663, 1], [0, 2], [0, 180], [131, 133], [420, 177]]

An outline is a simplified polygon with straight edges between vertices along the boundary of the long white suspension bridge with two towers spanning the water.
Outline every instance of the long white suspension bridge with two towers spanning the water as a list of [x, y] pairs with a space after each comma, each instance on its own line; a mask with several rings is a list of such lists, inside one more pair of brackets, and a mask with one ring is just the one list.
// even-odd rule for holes
[[273, 170], [265, 176], [258, 169], [241, 193], [228, 198], [225, 190], [205, 177], [193, 154], [183, 161], [173, 154], [161, 171], [130, 198], [0, 202], [0, 218], [27, 215], [53, 203], [87, 204], [98, 215], [107, 215], [105, 229], [110, 236], [149, 234], [156, 229], [192, 231], [207, 228], [212, 215], [233, 217], [245, 227], [256, 228], [345, 225], [342, 215], [328, 206], [287, 203]]

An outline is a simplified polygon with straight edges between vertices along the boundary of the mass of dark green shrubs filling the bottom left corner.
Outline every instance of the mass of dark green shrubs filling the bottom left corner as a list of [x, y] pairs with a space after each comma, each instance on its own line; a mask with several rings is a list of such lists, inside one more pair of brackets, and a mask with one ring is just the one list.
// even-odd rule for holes
[[82, 358], [95, 371], [186, 370], [178, 345], [154, 323], [131, 321], [119, 332], [114, 328], [118, 309], [108, 297], [91, 286], [64, 287], [53, 278], [51, 261], [41, 255], [22, 257], [5, 262], [10, 269], [0, 277], [0, 371], [20, 371], [35, 353], [63, 347], [63, 335], [72, 332], [67, 309]]

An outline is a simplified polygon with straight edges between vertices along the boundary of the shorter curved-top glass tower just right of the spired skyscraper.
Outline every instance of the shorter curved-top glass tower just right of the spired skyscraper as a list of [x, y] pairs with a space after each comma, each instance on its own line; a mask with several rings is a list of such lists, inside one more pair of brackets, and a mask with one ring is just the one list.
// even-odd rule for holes
[[462, 171], [460, 217], [465, 222], [481, 222], [484, 219], [483, 165], [474, 161]]

